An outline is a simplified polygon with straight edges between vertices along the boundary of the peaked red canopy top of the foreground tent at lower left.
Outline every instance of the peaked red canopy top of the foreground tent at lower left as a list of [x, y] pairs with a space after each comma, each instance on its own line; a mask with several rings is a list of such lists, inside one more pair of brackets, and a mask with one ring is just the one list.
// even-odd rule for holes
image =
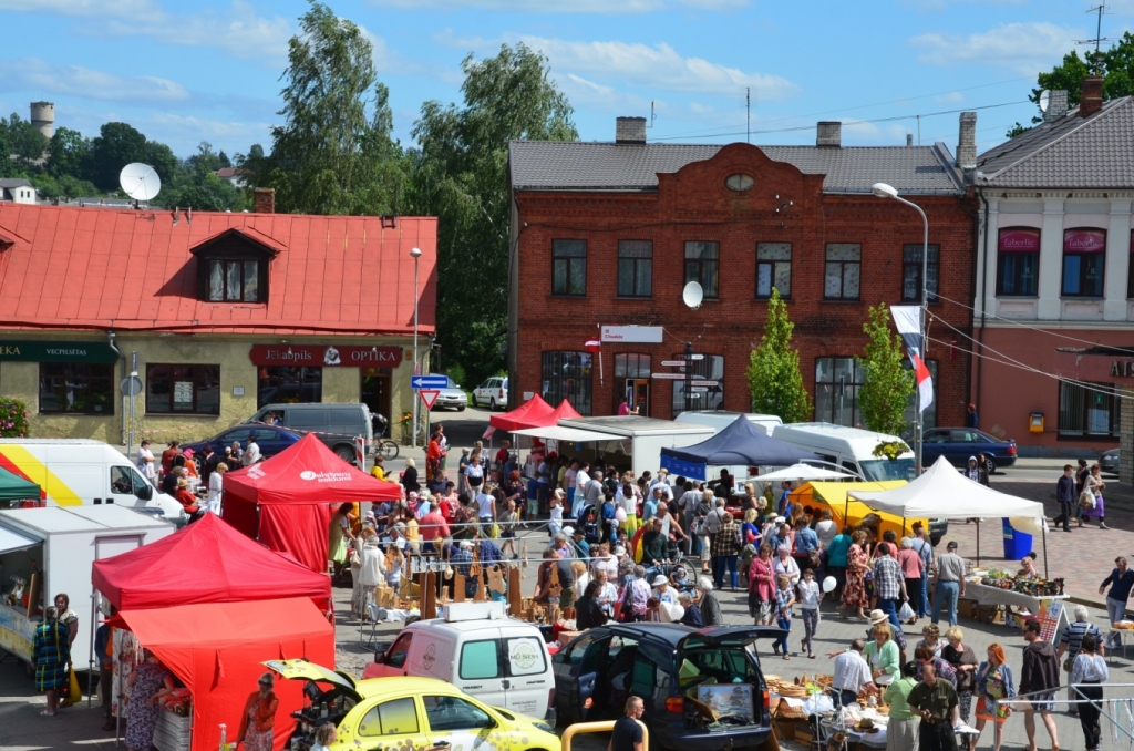
[[95, 560], [91, 581], [119, 610], [279, 597], [306, 597], [325, 608], [331, 597], [325, 574], [249, 540], [215, 514], [156, 542]]

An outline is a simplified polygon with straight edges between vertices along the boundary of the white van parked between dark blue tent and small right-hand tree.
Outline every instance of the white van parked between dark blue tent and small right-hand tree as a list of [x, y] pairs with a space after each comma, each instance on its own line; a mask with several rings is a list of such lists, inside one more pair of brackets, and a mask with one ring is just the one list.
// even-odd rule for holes
[[913, 480], [914, 453], [906, 450], [896, 459], [874, 456], [879, 444], [904, 440], [897, 436], [875, 433], [872, 430], [846, 428], [830, 422], [793, 422], [779, 425], [772, 438], [792, 444], [866, 480]]

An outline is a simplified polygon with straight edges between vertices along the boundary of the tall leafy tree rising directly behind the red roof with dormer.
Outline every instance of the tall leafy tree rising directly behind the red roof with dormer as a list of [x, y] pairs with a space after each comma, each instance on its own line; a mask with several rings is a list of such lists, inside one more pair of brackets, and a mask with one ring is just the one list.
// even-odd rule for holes
[[280, 211], [397, 213], [406, 183], [391, 138], [389, 90], [378, 81], [373, 45], [355, 24], [320, 2], [299, 19], [282, 91], [285, 123], [272, 151], [249, 158], [257, 186], [276, 188]]

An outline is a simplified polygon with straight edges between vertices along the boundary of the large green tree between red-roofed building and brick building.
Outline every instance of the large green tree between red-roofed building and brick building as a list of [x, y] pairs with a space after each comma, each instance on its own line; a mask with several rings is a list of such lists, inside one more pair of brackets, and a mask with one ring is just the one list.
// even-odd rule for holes
[[462, 69], [463, 106], [425, 102], [414, 124], [413, 199], [417, 213], [439, 218], [439, 343], [476, 382], [503, 368], [508, 142], [575, 141], [578, 132], [547, 58], [523, 43], [485, 60], [469, 54]]

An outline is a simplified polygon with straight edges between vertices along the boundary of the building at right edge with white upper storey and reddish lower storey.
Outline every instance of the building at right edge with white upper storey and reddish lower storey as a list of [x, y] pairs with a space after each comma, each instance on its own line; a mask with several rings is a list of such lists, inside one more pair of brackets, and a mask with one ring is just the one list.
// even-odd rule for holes
[[976, 166], [974, 403], [981, 428], [1023, 455], [1117, 446], [1134, 383], [1122, 365], [1134, 347], [1134, 99], [1103, 103], [1101, 79], [1083, 86], [1080, 108], [1051, 92], [1044, 123]]

